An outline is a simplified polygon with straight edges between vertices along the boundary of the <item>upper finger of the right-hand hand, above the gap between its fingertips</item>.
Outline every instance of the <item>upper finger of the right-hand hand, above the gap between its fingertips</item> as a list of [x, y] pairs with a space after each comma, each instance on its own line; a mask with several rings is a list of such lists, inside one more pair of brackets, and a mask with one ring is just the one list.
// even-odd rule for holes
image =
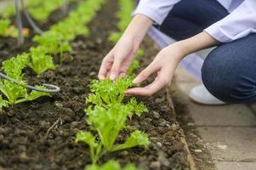
[[139, 82], [145, 81], [147, 77], [150, 77], [152, 73], [156, 72], [158, 70], [158, 66], [155, 63], [151, 63], [151, 65], [148, 65], [145, 70], [141, 71], [139, 75], [134, 79], [134, 84], [137, 84]]

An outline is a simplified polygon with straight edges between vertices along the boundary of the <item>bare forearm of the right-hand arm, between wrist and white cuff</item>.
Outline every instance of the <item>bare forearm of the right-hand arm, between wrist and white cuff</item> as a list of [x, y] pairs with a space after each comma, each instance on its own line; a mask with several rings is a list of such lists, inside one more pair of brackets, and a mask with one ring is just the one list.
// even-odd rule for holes
[[211, 48], [218, 45], [220, 42], [211, 37], [207, 32], [202, 31], [194, 37], [176, 42], [175, 45], [179, 46], [182, 50], [183, 56], [195, 53], [205, 48]]

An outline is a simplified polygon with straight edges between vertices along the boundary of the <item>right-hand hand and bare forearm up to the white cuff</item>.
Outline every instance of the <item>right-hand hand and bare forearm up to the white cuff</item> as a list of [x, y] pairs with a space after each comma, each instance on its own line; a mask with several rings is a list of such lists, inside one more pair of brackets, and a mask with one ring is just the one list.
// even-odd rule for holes
[[203, 48], [210, 48], [217, 45], [219, 42], [208, 35], [207, 32], [202, 32], [194, 37], [185, 39], [180, 42], [163, 48], [162, 51], [156, 55], [151, 65], [141, 71], [134, 79], [134, 83], [145, 81], [152, 73], [157, 73], [156, 79], [151, 84], [144, 88], [132, 88], [126, 91], [126, 94], [152, 95], [158, 90], [166, 87], [171, 83], [174, 76], [174, 71], [179, 65], [179, 61], [185, 58], [186, 55], [194, 53]]

